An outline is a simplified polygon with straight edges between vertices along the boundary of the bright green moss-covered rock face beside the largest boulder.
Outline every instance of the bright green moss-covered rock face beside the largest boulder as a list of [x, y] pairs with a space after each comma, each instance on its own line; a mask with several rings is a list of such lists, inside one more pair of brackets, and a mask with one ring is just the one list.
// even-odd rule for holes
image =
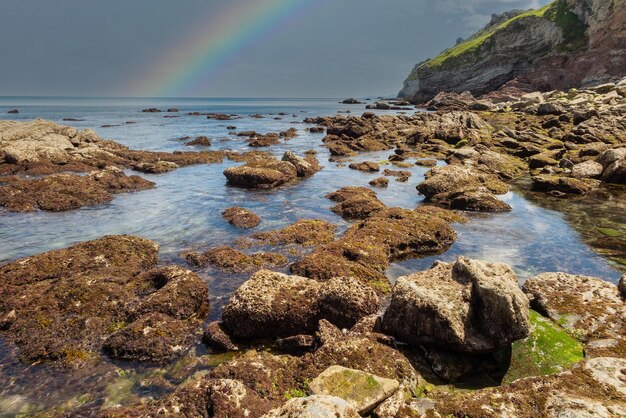
[[582, 344], [549, 319], [530, 311], [530, 323], [530, 336], [513, 343], [503, 383], [559, 373], [584, 358]]

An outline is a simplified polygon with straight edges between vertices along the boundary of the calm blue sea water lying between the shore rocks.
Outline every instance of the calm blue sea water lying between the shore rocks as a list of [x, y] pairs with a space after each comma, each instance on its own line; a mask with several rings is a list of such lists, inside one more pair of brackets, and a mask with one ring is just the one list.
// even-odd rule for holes
[[[15, 107], [20, 110], [18, 115], [6, 114]], [[163, 117], [169, 115], [167, 113], [142, 113], [141, 109], [146, 107], [178, 107], [180, 113], [174, 115], [180, 117], [167, 119]], [[222, 164], [181, 168], [163, 175], [141, 174], [157, 183], [156, 189], [118, 195], [112, 202], [97, 207], [64, 213], [0, 213], [0, 263], [103, 235], [133, 234], [160, 244], [161, 263], [185, 265], [179, 256], [184, 250], [228, 245], [250, 233], [231, 227], [222, 219], [221, 212], [234, 205], [244, 206], [261, 216], [262, 223], [256, 230], [270, 230], [299, 219], [317, 218], [338, 225], [338, 232], [341, 233], [349, 223], [330, 212], [332, 202], [325, 195], [344, 186], [368, 186], [368, 182], [380, 174], [366, 174], [350, 170], [347, 165], [328, 162], [329, 154], [321, 143], [323, 135], [304, 131], [306, 126], [301, 121], [307, 116], [332, 115], [347, 109], [360, 114], [363, 106], [341, 105], [337, 100], [330, 99], [126, 100], [120, 103], [84, 99], [0, 99], [0, 115], [3, 118], [28, 120], [40, 117], [79, 128], [91, 128], [104, 138], [134, 149], [193, 150], [178, 138], [206, 135], [213, 139], [210, 149], [247, 151], [250, 148], [245, 139], [230, 135], [227, 126], [237, 126], [238, 131], [255, 130], [261, 133], [295, 127], [298, 137], [267, 150], [281, 156], [286, 150], [301, 155], [313, 149], [325, 166], [312, 178], [273, 190], [254, 191], [226, 186], [223, 170], [239, 163], [225, 161]], [[187, 112], [220, 112], [242, 118], [216, 121], [202, 116], [188, 116]], [[279, 112], [286, 115], [275, 120]], [[264, 118], [250, 117], [257, 113], [263, 114]], [[63, 122], [63, 118], [84, 121]], [[136, 123], [126, 124], [128, 121]], [[102, 125], [120, 126], [102, 128]], [[354, 161], [384, 161], [392, 152], [361, 154]], [[383, 167], [394, 169], [392, 165]], [[415, 186], [428, 169], [414, 166], [402, 170], [413, 173], [408, 182], [399, 183], [390, 178], [388, 189], [375, 190], [387, 205], [412, 209], [423, 200]], [[464, 255], [508, 263], [514, 267], [520, 281], [545, 271], [592, 275], [611, 282], [618, 280], [621, 273], [583, 242], [563, 213], [532, 203], [516, 192], [508, 193], [503, 200], [513, 207], [511, 213], [470, 215], [468, 224], [454, 225], [459, 237], [447, 253], [395, 263], [388, 270], [390, 279], [393, 281], [400, 275], [428, 268], [435, 260], [449, 261]], [[290, 257], [293, 260], [293, 255]], [[249, 276], [221, 274], [210, 269], [199, 273], [209, 283], [211, 319], [219, 316], [229, 293]], [[198, 349], [203, 352], [201, 347]], [[120, 370], [133, 369], [129, 364], [117, 364], [113, 368], [107, 363], [102, 370], [91, 373], [89, 378], [74, 382], [45, 367], [18, 365], [14, 362], [14, 355], [13, 347], [0, 345], [0, 410], [7, 405], [3, 403], [7, 399], [14, 404], [35, 403], [39, 405], [38, 409], [71, 399], [76, 401], [77, 397], [87, 392], [92, 394], [91, 401], [111, 397], [104, 389], [110, 383], [111, 373], [120, 376]], [[128, 376], [128, 373], [121, 375]], [[137, 379], [136, 375], [133, 376]], [[127, 389], [135, 395], [141, 392], [137, 385], [129, 385]], [[46, 395], [43, 396], [43, 393]]]

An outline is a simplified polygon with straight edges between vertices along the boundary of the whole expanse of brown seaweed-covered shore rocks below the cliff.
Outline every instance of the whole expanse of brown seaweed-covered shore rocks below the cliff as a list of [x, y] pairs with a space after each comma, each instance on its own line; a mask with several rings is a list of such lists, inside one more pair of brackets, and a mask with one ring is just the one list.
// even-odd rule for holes
[[[626, 414], [624, 277], [615, 285], [546, 272], [520, 287], [510, 266], [467, 257], [394, 283], [386, 274], [396, 261], [448, 251], [467, 213], [511, 211], [501, 198], [511, 189], [557, 208], [622, 190], [625, 83], [507, 100], [442, 93], [431, 112], [410, 116], [309, 118], [326, 131], [329, 163], [380, 173], [376, 186], [426, 166], [415, 190], [426, 204], [391, 207], [370, 188], [343, 187], [326, 196], [349, 223], [340, 232], [322, 219], [256, 231], [260, 216], [225, 207], [222, 221], [240, 239], [185, 250], [187, 268], [159, 264], [158, 244], [134, 236], [14, 260], [0, 266], [0, 335], [21, 364], [67, 376], [110, 361], [167, 370], [135, 383], [162, 388], [154, 399], [87, 402], [49, 416]], [[389, 151], [384, 164], [397, 170], [351, 160], [368, 151]], [[52, 122], [1, 121], [0, 206], [99, 205], [155, 187], [126, 170], [224, 159], [241, 163], [224, 181], [242, 193], [299, 187], [323, 170], [314, 152], [136, 151]], [[614, 243], [617, 260], [623, 238]], [[207, 268], [248, 278], [215, 321], [198, 275]], [[194, 353], [200, 342], [209, 354]]]

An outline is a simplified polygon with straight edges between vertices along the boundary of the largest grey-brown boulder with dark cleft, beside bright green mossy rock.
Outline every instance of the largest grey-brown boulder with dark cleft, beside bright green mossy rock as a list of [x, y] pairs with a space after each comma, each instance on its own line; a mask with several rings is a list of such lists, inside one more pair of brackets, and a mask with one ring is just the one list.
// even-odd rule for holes
[[509, 266], [462, 257], [400, 277], [382, 327], [412, 345], [489, 352], [528, 336], [528, 300]]

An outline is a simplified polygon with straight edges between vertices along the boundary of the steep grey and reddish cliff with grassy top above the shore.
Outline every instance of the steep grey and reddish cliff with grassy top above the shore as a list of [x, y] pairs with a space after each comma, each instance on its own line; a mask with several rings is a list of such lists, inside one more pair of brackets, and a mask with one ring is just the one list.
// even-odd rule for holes
[[626, 0], [556, 0], [505, 14], [439, 56], [417, 64], [399, 96], [480, 95], [518, 79], [567, 89], [626, 75]]

